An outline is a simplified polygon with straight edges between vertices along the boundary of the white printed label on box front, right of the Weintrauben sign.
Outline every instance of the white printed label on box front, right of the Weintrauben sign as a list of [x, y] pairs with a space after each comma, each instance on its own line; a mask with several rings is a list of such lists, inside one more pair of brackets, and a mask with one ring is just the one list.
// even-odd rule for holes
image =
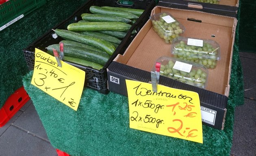
[[215, 118], [216, 118], [217, 111], [208, 109], [203, 106], [200, 106], [200, 107], [201, 107], [202, 121], [211, 125], [215, 125]]

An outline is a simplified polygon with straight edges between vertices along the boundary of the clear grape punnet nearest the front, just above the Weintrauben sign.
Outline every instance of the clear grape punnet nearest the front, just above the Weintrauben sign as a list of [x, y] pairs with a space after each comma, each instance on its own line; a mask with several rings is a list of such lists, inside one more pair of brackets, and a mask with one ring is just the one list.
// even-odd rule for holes
[[160, 75], [195, 87], [206, 88], [208, 70], [203, 65], [168, 56], [158, 58], [156, 63], [161, 63]]

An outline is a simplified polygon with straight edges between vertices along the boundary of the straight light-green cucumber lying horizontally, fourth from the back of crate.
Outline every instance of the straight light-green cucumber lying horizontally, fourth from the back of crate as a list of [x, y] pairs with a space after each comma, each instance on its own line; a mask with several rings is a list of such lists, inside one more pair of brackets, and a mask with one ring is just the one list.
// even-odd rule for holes
[[70, 31], [127, 31], [131, 27], [130, 24], [124, 22], [77, 22], [67, 26]]

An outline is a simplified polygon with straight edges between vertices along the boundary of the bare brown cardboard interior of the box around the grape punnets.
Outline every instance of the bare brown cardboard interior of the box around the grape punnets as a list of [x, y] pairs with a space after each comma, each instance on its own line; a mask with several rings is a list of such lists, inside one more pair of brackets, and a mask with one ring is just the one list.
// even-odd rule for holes
[[[170, 9], [161, 6], [156, 6], [152, 10], [152, 14], [160, 12], [171, 13], [186, 28], [182, 36], [212, 39], [219, 43], [221, 60], [217, 62], [215, 69], [208, 69], [206, 90], [228, 96], [236, 19], [234, 17]], [[189, 21], [187, 20], [188, 17], [200, 19], [202, 23]], [[151, 27], [152, 23], [148, 20], [124, 55], [120, 55], [115, 61], [151, 72], [157, 58], [172, 56], [171, 44], [165, 43]]]

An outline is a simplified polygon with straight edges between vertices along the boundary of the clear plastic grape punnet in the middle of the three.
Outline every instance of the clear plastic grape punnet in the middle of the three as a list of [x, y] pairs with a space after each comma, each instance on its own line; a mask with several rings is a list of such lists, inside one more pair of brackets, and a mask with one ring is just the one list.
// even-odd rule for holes
[[219, 44], [208, 39], [176, 37], [172, 42], [171, 53], [175, 58], [199, 63], [208, 69], [214, 69], [221, 59]]

